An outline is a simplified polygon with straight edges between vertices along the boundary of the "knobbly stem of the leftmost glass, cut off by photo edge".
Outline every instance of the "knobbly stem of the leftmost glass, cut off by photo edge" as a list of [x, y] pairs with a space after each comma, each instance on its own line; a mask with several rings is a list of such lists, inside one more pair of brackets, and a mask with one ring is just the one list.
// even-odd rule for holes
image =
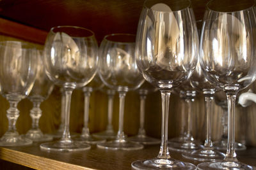
[[17, 109], [17, 105], [20, 101], [19, 97], [9, 97], [7, 96], [6, 99], [10, 103], [10, 108], [7, 110], [6, 117], [8, 118], [8, 131], [4, 134], [5, 136], [8, 134], [15, 134], [18, 136], [18, 132], [16, 131], [16, 122], [19, 117], [19, 110]]

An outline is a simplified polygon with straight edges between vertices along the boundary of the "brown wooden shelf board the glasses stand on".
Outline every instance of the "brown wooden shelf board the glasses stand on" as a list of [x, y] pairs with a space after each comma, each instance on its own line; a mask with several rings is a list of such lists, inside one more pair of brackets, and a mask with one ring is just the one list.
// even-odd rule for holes
[[[83, 152], [45, 152], [40, 144], [0, 148], [0, 159], [31, 167], [33, 169], [131, 169], [131, 163], [138, 159], [156, 157], [159, 145], [145, 146], [143, 150], [104, 150], [92, 146]], [[193, 164], [198, 162], [183, 159], [180, 153], [172, 152], [174, 159]], [[237, 152], [241, 162], [256, 166], [256, 148]]]

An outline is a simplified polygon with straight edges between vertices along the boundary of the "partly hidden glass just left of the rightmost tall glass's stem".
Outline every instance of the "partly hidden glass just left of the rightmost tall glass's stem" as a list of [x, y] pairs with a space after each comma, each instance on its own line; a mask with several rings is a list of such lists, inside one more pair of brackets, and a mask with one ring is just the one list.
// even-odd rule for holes
[[198, 62], [196, 69], [192, 76], [189, 78], [189, 83], [194, 89], [202, 92], [205, 99], [205, 123], [206, 123], [206, 139], [202, 149], [193, 150], [191, 152], [184, 152], [182, 156], [186, 159], [199, 160], [199, 161], [213, 161], [222, 160], [225, 155], [217, 150], [214, 150], [211, 140], [211, 117], [214, 107], [214, 94], [215, 87], [205, 78]]

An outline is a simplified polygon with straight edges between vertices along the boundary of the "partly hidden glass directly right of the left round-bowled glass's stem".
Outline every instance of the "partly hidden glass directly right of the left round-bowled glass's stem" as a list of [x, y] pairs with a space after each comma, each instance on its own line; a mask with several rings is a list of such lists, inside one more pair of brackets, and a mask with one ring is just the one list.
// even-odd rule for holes
[[102, 83], [102, 81], [100, 81], [98, 74], [96, 74], [93, 80], [90, 83], [88, 83], [88, 85], [82, 88], [84, 92], [84, 127], [81, 135], [78, 138], [75, 138], [76, 141], [79, 141], [82, 143], [90, 143], [90, 144], [103, 143], [106, 141], [106, 139], [99, 139], [99, 138], [93, 137], [90, 134], [90, 130], [88, 128], [91, 93], [95, 90], [101, 89], [102, 87], [104, 87], [104, 84]]

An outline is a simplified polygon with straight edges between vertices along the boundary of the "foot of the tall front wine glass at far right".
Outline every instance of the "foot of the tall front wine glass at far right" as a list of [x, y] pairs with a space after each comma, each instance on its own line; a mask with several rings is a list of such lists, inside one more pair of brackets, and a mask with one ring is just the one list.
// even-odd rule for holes
[[243, 164], [241, 162], [228, 162], [225, 160], [222, 160], [220, 162], [203, 162], [197, 165], [198, 169], [225, 169], [225, 170], [252, 170], [255, 167], [248, 166], [246, 164]]

